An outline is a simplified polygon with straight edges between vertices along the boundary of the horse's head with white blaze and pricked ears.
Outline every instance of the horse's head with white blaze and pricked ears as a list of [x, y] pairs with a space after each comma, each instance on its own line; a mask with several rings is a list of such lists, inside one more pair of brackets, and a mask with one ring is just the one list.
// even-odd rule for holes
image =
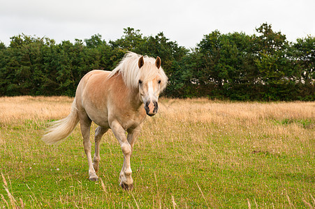
[[167, 77], [161, 69], [159, 56], [155, 63], [145, 62], [143, 56], [141, 56], [138, 66], [140, 69], [138, 79], [140, 100], [145, 104], [147, 115], [154, 116], [158, 111], [159, 95], [166, 87]]

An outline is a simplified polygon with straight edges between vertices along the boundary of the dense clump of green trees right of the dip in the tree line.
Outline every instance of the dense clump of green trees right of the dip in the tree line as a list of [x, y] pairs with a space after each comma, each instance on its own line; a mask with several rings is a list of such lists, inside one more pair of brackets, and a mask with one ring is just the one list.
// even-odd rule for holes
[[230, 100], [314, 100], [314, 38], [291, 44], [269, 24], [256, 31], [258, 36], [205, 35], [187, 55], [193, 65], [182, 64], [185, 74], [188, 69], [193, 75], [189, 89], [198, 96]]

